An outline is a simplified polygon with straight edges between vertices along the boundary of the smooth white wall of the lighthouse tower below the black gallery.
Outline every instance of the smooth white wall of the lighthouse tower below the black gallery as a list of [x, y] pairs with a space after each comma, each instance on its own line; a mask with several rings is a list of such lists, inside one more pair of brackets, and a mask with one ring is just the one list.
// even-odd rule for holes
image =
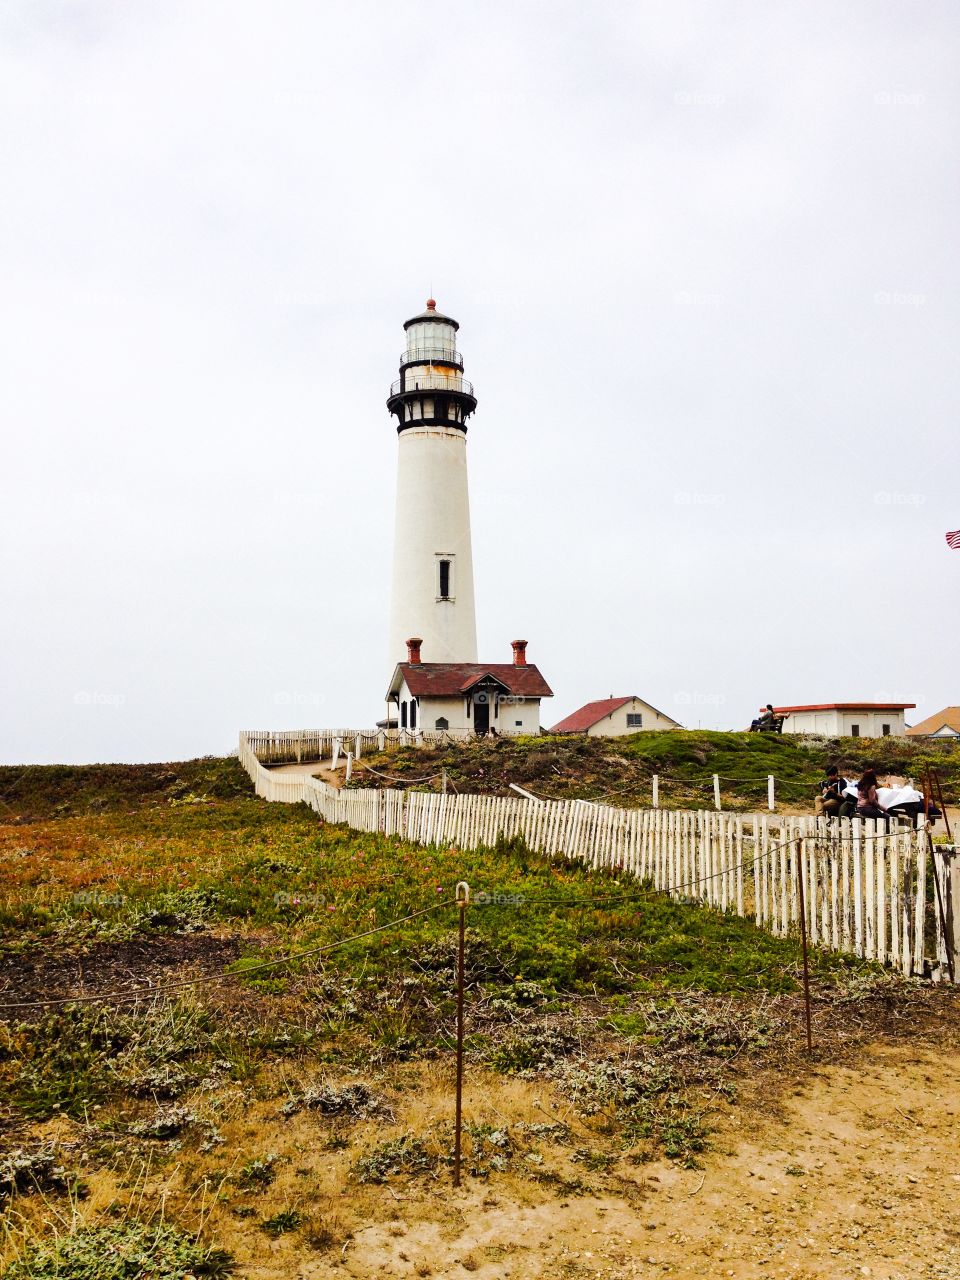
[[[390, 605], [390, 668], [421, 636], [424, 662], [476, 662], [474, 553], [463, 431], [399, 433]], [[453, 599], [438, 600], [438, 559], [453, 562]]]

